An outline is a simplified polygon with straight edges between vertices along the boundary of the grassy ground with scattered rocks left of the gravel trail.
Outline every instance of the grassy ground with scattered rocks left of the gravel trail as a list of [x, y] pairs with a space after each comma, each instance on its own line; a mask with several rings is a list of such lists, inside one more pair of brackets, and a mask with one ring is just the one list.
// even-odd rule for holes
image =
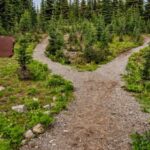
[[[31, 51], [35, 44], [29, 45]], [[16, 44], [16, 47], [19, 47]], [[54, 115], [65, 109], [73, 98], [73, 86], [60, 76], [52, 75], [46, 65], [32, 61], [30, 69], [33, 80], [20, 81], [18, 64], [13, 58], [0, 58], [0, 149], [17, 150], [26, 130], [38, 123], [45, 128], [54, 122]], [[55, 97], [55, 99], [54, 99]], [[43, 106], [52, 104], [50, 114], [45, 114]], [[12, 106], [25, 104], [28, 111], [17, 113]]]

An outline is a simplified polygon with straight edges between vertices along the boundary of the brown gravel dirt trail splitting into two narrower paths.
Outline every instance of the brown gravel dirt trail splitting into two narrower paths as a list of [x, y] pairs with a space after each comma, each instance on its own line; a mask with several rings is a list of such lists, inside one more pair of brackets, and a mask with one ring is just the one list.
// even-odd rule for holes
[[57, 116], [52, 129], [33, 139], [21, 150], [128, 150], [130, 134], [148, 129], [150, 115], [141, 112], [135, 98], [122, 86], [121, 74], [129, 56], [148, 46], [126, 52], [94, 72], [77, 72], [52, 62], [44, 55], [48, 38], [37, 45], [34, 59], [43, 62], [56, 74], [71, 80], [75, 100]]

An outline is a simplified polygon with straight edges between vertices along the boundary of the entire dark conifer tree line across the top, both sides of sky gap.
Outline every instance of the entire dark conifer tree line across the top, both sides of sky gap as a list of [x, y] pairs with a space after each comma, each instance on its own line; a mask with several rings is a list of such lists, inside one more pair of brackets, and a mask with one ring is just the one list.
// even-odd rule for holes
[[0, 30], [24, 32], [36, 29], [35, 26], [45, 30], [46, 22], [52, 19], [90, 20], [99, 15], [105, 24], [110, 24], [129, 9], [139, 13], [147, 26], [150, 24], [150, 0], [42, 0], [39, 11], [32, 0], [1, 0]]

